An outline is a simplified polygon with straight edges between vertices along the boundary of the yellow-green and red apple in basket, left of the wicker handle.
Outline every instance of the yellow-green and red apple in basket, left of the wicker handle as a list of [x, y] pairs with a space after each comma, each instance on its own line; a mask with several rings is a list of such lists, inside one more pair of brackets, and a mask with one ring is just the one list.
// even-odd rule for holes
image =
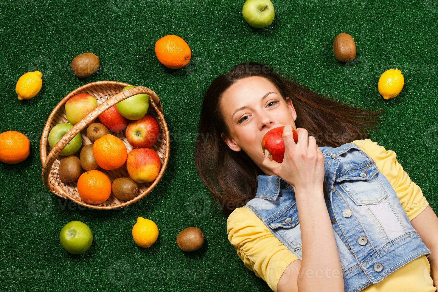
[[96, 107], [97, 101], [94, 96], [88, 93], [81, 93], [67, 100], [65, 103], [65, 114], [68, 122], [74, 125]]

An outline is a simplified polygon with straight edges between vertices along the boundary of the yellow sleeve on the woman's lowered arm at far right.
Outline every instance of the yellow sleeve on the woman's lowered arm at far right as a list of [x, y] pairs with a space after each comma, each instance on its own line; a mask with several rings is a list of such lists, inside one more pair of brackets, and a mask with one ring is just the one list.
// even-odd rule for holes
[[396, 152], [386, 150], [385, 147], [370, 139], [355, 140], [353, 143], [374, 159], [379, 171], [396, 191], [409, 220], [415, 218], [427, 207], [429, 202], [424, 197], [420, 186], [410, 180], [409, 175], [397, 161]]

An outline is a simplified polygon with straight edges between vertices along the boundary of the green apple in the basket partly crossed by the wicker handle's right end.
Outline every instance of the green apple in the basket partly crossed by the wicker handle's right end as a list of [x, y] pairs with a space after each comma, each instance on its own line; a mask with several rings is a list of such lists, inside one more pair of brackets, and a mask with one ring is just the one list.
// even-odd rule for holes
[[[122, 91], [136, 86], [127, 86]], [[131, 96], [116, 105], [117, 111], [128, 120], [140, 120], [148, 111], [149, 95], [138, 94]]]

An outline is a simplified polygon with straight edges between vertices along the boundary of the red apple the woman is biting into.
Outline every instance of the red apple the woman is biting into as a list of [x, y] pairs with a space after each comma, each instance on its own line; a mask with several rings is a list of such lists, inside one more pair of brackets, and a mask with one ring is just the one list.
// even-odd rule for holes
[[[283, 129], [284, 126], [276, 127], [272, 130], [266, 132], [263, 139], [261, 139], [261, 148], [263, 152], [268, 149], [269, 153], [272, 155], [272, 159], [276, 162], [283, 162], [284, 157], [284, 141], [283, 141]], [[297, 131], [292, 128], [293, 140], [298, 143]]]

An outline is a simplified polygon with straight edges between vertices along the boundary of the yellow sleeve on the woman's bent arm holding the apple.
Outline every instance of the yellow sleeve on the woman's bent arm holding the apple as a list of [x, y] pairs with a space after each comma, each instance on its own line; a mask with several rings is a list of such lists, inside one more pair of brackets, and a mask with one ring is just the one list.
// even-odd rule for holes
[[228, 240], [245, 267], [266, 281], [272, 291], [286, 267], [299, 258], [250, 209], [235, 209], [226, 221]]

